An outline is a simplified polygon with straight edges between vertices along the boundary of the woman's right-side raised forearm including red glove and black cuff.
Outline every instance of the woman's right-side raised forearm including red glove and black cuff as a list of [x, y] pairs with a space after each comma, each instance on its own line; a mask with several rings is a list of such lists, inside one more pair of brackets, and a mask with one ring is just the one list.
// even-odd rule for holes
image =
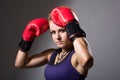
[[79, 25], [79, 20], [69, 7], [60, 6], [51, 11], [50, 19], [58, 26], [65, 27], [68, 37], [75, 48], [75, 58], [84, 69], [93, 65], [93, 57], [90, 55], [90, 48], [85, 39], [86, 33]]

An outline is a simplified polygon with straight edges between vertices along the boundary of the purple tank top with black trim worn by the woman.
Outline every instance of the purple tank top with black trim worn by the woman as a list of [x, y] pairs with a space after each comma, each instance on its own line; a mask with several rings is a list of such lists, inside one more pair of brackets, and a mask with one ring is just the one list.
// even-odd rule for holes
[[69, 55], [60, 63], [54, 65], [54, 60], [60, 49], [54, 51], [50, 58], [50, 62], [45, 68], [46, 80], [85, 80], [86, 76], [78, 73], [71, 64], [71, 57], [74, 53], [72, 50]]

